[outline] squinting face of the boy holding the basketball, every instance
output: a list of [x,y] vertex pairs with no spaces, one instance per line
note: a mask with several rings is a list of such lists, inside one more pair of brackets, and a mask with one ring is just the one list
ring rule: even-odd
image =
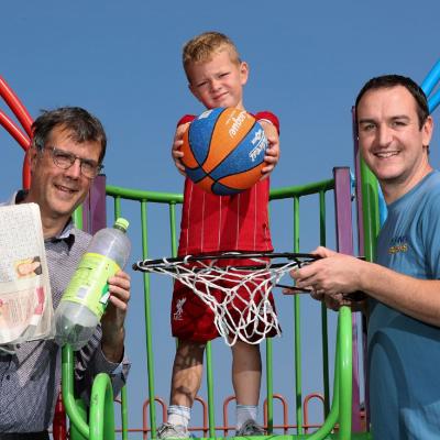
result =
[[231,61],[227,48],[211,59],[187,67],[189,90],[207,108],[243,107],[243,86],[248,81],[248,64]]

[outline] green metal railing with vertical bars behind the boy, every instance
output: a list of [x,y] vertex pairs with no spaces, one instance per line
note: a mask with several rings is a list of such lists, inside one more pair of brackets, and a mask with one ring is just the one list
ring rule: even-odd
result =
[[[326,244],[326,193],[334,189],[334,180],[323,180],[310,185],[286,187],[280,189],[274,189],[271,191],[271,206],[275,200],[289,199],[293,204],[293,252],[299,252],[299,205],[300,199],[307,196],[318,196],[319,198],[319,234],[320,244]],[[173,256],[177,253],[177,239],[176,239],[176,205],[183,202],[183,195],[180,194],[166,194],[156,191],[144,191],[121,188],[116,186],[107,186],[107,195],[113,198],[113,211],[114,217],[119,217],[121,212],[121,200],[132,200],[138,202],[141,212],[141,242],[142,242],[142,258],[148,257],[148,218],[147,207],[150,204],[165,204],[168,207],[169,216],[169,234],[170,234],[170,254]],[[150,420],[151,420],[151,436],[156,436],[156,414],[154,406],[155,388],[154,388],[154,351],[153,351],[153,329],[152,329],[152,304],[150,296],[150,276],[145,273],[143,276],[143,288],[144,288],[144,315],[145,315],[145,346],[146,346],[146,365],[147,365],[147,382],[148,382],[148,398],[152,403],[150,405]],[[330,384],[329,384],[329,346],[328,346],[328,323],[327,323],[327,310],[324,307],[321,308],[321,322],[322,322],[322,363],[323,363],[323,388],[324,388],[324,415],[326,421],[314,433],[304,433],[302,425],[302,370],[301,370],[301,314],[300,314],[300,298],[296,296],[294,298],[294,321],[295,321],[295,338],[294,338],[294,351],[295,351],[295,398],[296,398],[296,422],[297,422],[297,435],[296,436],[279,436],[289,439],[326,439],[338,436],[341,439],[351,438],[351,413],[352,413],[352,321],[351,311],[348,308],[342,308],[338,317],[338,330],[337,330],[337,349],[334,355],[334,377],[333,377],[333,397],[330,405]],[[130,336],[128,336],[130,338]],[[216,437],[216,424],[215,424],[215,396],[213,396],[213,365],[212,365],[212,351],[211,344],[208,343],[206,352],[206,369],[207,369],[207,394],[208,394],[208,416],[209,416],[209,438]],[[64,350],[63,355],[63,395],[64,402],[67,403],[66,409],[70,417],[70,421],[76,429],[86,438],[98,439],[98,438],[112,438],[109,431],[103,433],[102,422],[100,421],[101,429],[98,433],[98,428],[92,430],[92,424],[87,426],[84,417],[79,416],[80,410],[76,407],[75,399],[73,397],[72,388],[72,373],[73,359],[68,349]],[[65,384],[65,382],[67,384]],[[113,429],[113,420],[108,420],[107,416],[110,417],[110,409],[108,409],[107,400],[110,396],[108,386],[103,383],[100,385],[100,392],[97,391],[94,394],[96,405],[94,414],[100,420],[106,420]],[[111,387],[110,387],[111,388]],[[272,341],[266,340],[266,389],[267,389],[267,426],[268,432],[273,429],[273,348]],[[94,385],[95,393],[95,385]],[[99,396],[98,396],[99,394]],[[124,393],[123,393],[124,394]],[[106,397],[107,396],[107,397]],[[99,405],[97,404],[99,402]],[[122,414],[123,414],[123,438],[127,438],[127,398],[122,396]],[[339,425],[338,435],[331,433],[336,425]],[[109,428],[110,429],[110,428]],[[99,437],[105,436],[105,437]]]

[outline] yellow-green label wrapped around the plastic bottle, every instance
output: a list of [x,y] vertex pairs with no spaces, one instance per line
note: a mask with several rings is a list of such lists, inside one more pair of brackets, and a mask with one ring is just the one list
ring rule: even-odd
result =
[[81,304],[101,319],[110,297],[107,280],[118,271],[120,267],[113,260],[92,252],[85,253],[62,300]]

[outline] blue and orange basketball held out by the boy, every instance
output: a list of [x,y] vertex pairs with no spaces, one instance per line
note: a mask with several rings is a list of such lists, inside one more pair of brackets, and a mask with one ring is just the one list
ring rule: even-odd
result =
[[245,110],[207,110],[190,123],[183,141],[186,174],[208,193],[231,196],[262,176],[267,139]]

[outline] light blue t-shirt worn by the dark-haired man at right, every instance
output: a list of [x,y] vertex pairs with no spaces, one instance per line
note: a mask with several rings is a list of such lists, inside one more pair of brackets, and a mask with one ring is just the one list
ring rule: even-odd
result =
[[[393,271],[421,279],[440,278],[439,172],[388,206],[376,253],[376,262]],[[440,328],[374,299],[370,307],[374,439],[440,439]]]

